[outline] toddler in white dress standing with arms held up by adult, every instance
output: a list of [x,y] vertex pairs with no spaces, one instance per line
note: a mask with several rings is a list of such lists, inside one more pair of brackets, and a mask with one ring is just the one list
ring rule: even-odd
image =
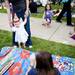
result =
[[[15,31],[15,42],[18,42],[19,48],[25,48],[25,43],[28,39],[28,33],[24,29],[24,25],[27,22],[27,18],[25,17],[24,21],[22,18],[18,18],[16,14],[14,14],[14,26],[12,26],[12,31]],[[22,46],[21,46],[22,45]]]

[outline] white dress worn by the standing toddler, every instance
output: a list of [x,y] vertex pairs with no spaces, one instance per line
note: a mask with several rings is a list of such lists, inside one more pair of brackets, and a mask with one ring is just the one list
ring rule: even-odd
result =
[[25,43],[28,39],[28,33],[24,28],[24,22],[20,22],[19,27],[15,27],[15,42]]

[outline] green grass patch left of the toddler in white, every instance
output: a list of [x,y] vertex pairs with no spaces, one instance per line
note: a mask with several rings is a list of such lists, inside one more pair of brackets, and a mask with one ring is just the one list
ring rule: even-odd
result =
[[0,48],[3,46],[11,46],[11,33],[0,30]]

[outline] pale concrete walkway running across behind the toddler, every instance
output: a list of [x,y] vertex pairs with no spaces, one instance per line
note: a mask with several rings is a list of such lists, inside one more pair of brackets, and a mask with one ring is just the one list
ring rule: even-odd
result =
[[[51,27],[42,26],[42,19],[30,18],[32,36],[75,46],[75,40],[70,38],[70,32],[73,27],[66,26],[66,23],[57,23],[52,21]],[[0,14],[0,29],[11,31],[8,25],[8,17],[6,14]]]

